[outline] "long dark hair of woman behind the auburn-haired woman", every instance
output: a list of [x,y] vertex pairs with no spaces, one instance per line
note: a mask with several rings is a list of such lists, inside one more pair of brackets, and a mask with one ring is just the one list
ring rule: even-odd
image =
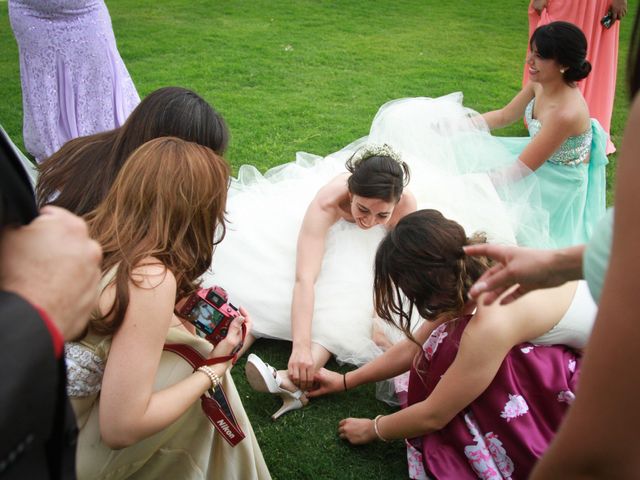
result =
[[129,155],[166,136],[218,155],[229,143],[223,118],[199,95],[186,88],[161,88],[147,95],[120,128],[71,140],[45,160],[36,187],[39,205],[51,203],[77,215],[90,212],[107,195]]

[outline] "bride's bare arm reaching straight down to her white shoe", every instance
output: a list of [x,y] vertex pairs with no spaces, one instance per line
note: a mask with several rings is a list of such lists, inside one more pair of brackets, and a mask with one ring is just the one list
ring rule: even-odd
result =
[[336,222],[331,209],[322,205],[321,192],[309,204],[298,235],[296,279],[291,303],[293,345],[288,370],[291,381],[302,389],[311,387],[315,374],[311,355],[314,288],[322,266],[327,232]]

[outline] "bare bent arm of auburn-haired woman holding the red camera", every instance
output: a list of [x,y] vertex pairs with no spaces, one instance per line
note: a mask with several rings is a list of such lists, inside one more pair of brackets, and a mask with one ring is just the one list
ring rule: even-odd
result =
[[[202,372],[154,392],[160,356],[173,317],[176,281],[163,266],[135,270],[141,284],[129,283],[129,306],[113,336],[100,394],[100,433],[111,448],[123,448],[176,421],[211,387]],[[228,354],[233,345],[220,342],[214,355]],[[228,364],[211,368],[222,377]]]

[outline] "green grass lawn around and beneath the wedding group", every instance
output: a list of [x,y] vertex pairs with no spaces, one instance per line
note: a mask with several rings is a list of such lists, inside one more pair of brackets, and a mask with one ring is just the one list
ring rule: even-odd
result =
[[[520,88],[527,42],[522,0],[118,0],[107,2],[120,53],[141,96],[181,85],[226,118],[234,169],[261,170],[303,150],[333,152],[367,134],[378,107],[394,98],[461,90],[478,111],[498,108]],[[629,2],[635,12],[637,0]],[[632,24],[622,24],[612,136],[619,145],[628,101],[624,60]],[[18,52],[0,2],[0,123],[22,146]],[[518,123],[499,132],[525,135]],[[608,172],[609,191],[615,155]],[[254,351],[286,365],[289,346]],[[330,367],[336,367],[330,364]],[[400,442],[351,447],[336,435],[347,416],[389,411],[373,387],[318,399],[272,422],[275,399],[234,377],[275,478],[405,478]]]

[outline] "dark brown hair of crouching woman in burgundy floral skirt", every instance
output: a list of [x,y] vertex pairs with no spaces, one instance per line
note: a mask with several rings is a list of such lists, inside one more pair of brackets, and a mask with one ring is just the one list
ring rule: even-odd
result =
[[466,256],[462,247],[485,241],[483,234],[467,238],[457,222],[437,210],[418,210],[402,218],[376,252],[378,316],[413,339],[414,307],[427,320],[459,315],[469,289],[489,267],[488,259]]

